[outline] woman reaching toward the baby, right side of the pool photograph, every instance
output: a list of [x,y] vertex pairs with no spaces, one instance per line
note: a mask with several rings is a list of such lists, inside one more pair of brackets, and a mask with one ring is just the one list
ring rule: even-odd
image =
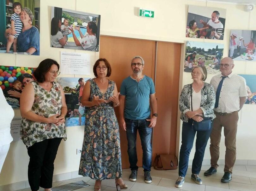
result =
[[97,25],[94,22],[88,22],[88,25],[86,27],[87,33],[85,35],[83,35],[82,31],[80,30],[80,26],[76,26],[76,30],[78,30],[80,34],[80,40],[77,39],[74,29],[70,28],[78,50],[94,51],[97,44]]

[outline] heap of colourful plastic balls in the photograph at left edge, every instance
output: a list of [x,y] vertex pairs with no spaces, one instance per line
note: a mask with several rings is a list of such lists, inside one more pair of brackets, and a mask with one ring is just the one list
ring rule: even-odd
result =
[[12,87],[16,81],[23,74],[33,75],[35,68],[18,67],[18,66],[0,66],[0,87],[4,90],[6,87]]

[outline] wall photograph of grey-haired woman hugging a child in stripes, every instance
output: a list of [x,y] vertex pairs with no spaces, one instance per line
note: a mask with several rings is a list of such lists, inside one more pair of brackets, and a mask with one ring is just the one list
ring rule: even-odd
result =
[[0,53],[40,55],[40,0],[1,0],[0,7]]

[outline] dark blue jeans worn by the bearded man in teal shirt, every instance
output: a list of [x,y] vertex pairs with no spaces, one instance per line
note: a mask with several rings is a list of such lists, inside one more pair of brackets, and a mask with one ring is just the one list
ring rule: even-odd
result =
[[[150,116],[147,119],[150,119]],[[143,151],[142,167],[144,171],[150,171],[151,163],[152,163],[152,145],[151,145],[152,128],[149,128],[150,121],[146,121],[146,119],[131,120],[131,119],[125,118],[125,123],[126,123],[126,137],[128,141],[128,155],[129,155],[131,170],[138,170],[136,138],[137,138],[137,131],[139,131],[142,151]]]

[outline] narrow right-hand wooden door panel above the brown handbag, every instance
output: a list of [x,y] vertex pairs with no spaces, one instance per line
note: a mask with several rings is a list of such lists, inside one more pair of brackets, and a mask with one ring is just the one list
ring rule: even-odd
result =
[[156,154],[176,154],[181,44],[157,42],[157,122],[153,131],[153,159]]

